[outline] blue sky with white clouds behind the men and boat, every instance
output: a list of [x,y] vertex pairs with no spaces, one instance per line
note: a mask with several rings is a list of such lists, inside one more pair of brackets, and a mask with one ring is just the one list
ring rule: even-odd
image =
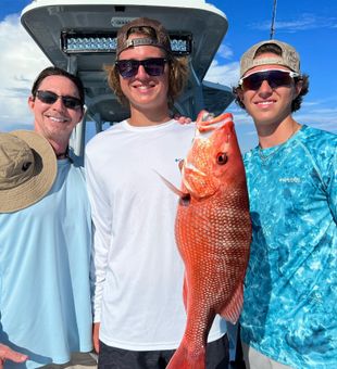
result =
[[[233,86],[240,55],[253,43],[270,38],[274,0],[208,0],[229,23],[227,35],[205,79]],[[0,130],[32,128],[27,109],[29,88],[49,62],[20,24],[20,13],[30,0],[1,0]],[[337,132],[337,1],[278,0],[275,38],[291,43],[301,55],[301,69],[310,76],[310,91],[295,114],[301,124]],[[242,151],[257,144],[251,119],[232,104]]]

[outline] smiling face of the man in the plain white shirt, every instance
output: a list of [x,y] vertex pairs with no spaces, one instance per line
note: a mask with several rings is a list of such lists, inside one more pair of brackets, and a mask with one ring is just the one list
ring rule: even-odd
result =
[[[129,39],[143,37],[133,34]],[[118,60],[147,60],[151,58],[165,58],[161,48],[153,46],[138,46],[121,52]],[[142,114],[167,115],[167,92],[168,92],[168,64],[165,63],[164,73],[160,76],[150,76],[146,73],[143,65],[140,65],[138,73],[129,78],[120,76],[121,89],[129,101],[132,117],[141,112]]]

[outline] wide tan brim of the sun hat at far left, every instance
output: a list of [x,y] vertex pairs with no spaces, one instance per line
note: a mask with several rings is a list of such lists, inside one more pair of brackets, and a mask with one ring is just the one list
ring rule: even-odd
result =
[[13,213],[41,200],[51,189],[58,173],[55,153],[46,138],[32,130],[11,135],[25,141],[34,153],[34,174],[15,188],[0,191],[0,213]]

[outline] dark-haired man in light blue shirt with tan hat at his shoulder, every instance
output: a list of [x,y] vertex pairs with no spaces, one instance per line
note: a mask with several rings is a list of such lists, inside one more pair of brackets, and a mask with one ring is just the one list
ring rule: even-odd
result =
[[0,368],[78,368],[92,348],[91,219],[67,147],[83,85],[46,68],[28,104],[35,131],[0,133]]

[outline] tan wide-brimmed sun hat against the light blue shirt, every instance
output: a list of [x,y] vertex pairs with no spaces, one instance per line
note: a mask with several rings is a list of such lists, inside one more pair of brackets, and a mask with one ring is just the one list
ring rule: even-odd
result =
[[54,151],[32,130],[0,133],[0,213],[13,213],[41,200],[58,166]]

